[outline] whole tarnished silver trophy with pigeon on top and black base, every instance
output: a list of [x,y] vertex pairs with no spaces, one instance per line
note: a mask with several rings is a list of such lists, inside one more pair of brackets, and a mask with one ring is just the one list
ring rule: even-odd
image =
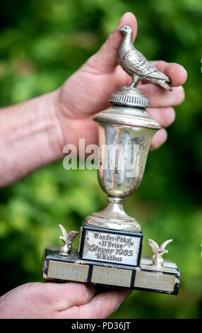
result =
[[165,246],[152,239],[152,258],[141,257],[143,234],[135,218],[123,208],[124,198],[141,184],[145,162],[153,135],[160,124],[150,118],[145,108],[148,98],[137,88],[140,80],[172,90],[170,79],[133,47],[129,26],[119,29],[123,38],[118,58],[121,67],[131,76],[131,85],[110,96],[112,106],[95,115],[99,137],[100,186],[108,194],[105,210],[92,213],[81,227],[79,249],[71,244],[78,232],[67,234],[59,225],[64,246],[47,247],[42,274],[55,281],[80,281],[101,286],[117,286],[158,293],[177,294],[179,270],[171,261],[164,261]]

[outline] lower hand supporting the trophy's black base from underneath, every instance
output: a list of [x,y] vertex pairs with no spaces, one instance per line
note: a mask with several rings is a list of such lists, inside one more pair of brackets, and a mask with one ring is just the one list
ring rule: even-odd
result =
[[131,293],[124,288],[95,291],[83,283],[27,283],[1,296],[0,318],[105,319]]

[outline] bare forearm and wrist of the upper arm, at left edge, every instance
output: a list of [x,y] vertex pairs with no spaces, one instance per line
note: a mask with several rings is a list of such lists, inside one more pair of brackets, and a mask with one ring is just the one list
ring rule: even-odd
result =
[[62,156],[57,91],[0,110],[0,186]]

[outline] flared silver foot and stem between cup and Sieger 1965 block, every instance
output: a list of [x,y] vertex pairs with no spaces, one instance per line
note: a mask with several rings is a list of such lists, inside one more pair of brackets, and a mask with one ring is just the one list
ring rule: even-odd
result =
[[124,211],[124,198],[108,196],[109,204],[104,210],[93,213],[85,219],[85,225],[93,225],[112,230],[130,230],[141,232],[141,226],[135,218]]

